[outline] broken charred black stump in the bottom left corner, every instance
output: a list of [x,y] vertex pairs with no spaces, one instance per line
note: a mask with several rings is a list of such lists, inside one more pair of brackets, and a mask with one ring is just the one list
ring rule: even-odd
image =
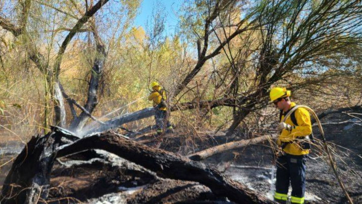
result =
[[0,196],[2,204],[36,204],[47,197],[54,152],[62,135],[55,131],[30,139],[5,178]]

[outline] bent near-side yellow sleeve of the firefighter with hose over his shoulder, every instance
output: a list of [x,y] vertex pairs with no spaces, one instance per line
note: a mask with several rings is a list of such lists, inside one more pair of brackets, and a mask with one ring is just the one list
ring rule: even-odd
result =
[[295,110],[295,119],[298,125],[293,126],[290,132],[293,138],[307,136],[312,133],[311,116],[306,109],[299,108]]

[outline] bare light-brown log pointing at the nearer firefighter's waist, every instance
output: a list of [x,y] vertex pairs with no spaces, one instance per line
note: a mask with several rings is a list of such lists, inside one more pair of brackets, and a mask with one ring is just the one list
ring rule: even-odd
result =
[[260,137],[252,138],[252,139],[242,139],[239,141],[220,144],[218,146],[211,147],[206,150],[202,150],[202,151],[196,152],[194,154],[191,154],[189,156],[189,159],[194,160],[194,161],[201,161],[212,155],[219,154],[224,151],[228,151],[228,150],[232,150],[232,149],[236,149],[236,148],[240,148],[240,147],[245,147],[245,146],[248,146],[249,144],[257,144],[257,143],[263,142],[268,139],[276,138],[277,136],[278,135],[267,135],[267,136],[260,136]]

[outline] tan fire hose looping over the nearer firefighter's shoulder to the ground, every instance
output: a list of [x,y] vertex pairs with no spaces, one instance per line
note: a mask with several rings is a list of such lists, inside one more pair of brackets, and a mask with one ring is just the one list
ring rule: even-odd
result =
[[297,106],[294,106],[287,114],[286,116],[284,117],[283,121],[282,122],[285,122],[285,120],[290,117],[290,115],[298,108],[304,108],[306,110],[308,110],[312,115],[313,117],[316,119],[316,122],[318,123],[318,128],[319,128],[319,131],[321,133],[321,137],[322,137],[322,142],[323,142],[323,147],[324,147],[324,150],[325,152],[327,153],[328,155],[328,160],[329,160],[329,163],[331,164],[331,167],[333,169],[333,172],[334,172],[334,175],[336,176],[337,180],[338,180],[338,183],[340,184],[341,188],[342,188],[342,191],[344,192],[345,196],[347,197],[348,199],[348,202],[350,204],[353,204],[353,201],[352,199],[349,197],[348,195],[348,192],[346,191],[346,188],[344,187],[344,184],[342,183],[342,180],[340,178],[340,176],[338,175],[338,172],[337,172],[337,166],[336,164],[334,163],[333,161],[333,157],[332,157],[332,154],[331,152],[329,151],[329,148],[328,148],[328,144],[327,144],[327,141],[325,140],[325,137],[324,137],[324,131],[323,131],[323,128],[322,128],[322,125],[319,121],[319,118],[317,117],[317,114],[308,106],[304,106],[304,105],[297,105]]

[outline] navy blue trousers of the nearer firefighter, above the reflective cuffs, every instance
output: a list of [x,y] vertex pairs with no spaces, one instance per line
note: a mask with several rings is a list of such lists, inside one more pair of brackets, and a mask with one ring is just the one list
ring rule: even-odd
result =
[[275,192],[288,194],[289,183],[291,196],[304,197],[306,191],[306,156],[285,154],[277,159],[277,182]]

